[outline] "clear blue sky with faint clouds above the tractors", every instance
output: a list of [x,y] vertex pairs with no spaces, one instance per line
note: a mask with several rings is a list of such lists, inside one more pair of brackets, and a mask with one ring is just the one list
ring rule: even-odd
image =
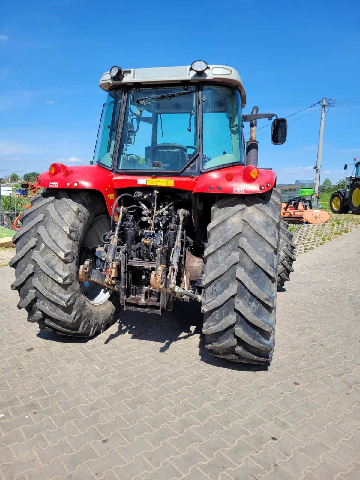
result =
[[[0,168],[43,171],[56,159],[88,163],[112,65],[186,65],[204,59],[238,69],[250,112],[290,115],[323,96],[322,180],[336,182],[360,157],[360,7],[347,1],[19,1],[0,18]],[[278,182],[313,178],[320,112],[288,120],[288,140],[259,131],[259,165]],[[258,127],[266,125],[258,122]],[[247,129],[248,131],[248,129]]]

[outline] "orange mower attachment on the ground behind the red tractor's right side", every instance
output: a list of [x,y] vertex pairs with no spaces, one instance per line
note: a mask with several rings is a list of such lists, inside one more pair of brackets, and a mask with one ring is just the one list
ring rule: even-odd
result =
[[296,197],[281,204],[281,218],[288,223],[325,223],[330,216],[327,212],[314,210],[310,200]]

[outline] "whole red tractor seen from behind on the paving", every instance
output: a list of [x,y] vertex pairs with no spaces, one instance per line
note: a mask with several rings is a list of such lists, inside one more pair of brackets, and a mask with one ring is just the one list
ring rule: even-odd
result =
[[[94,166],[53,163],[21,216],[10,262],[28,321],[93,336],[120,310],[171,311],[198,301],[216,357],[269,363],[278,284],[294,245],[280,219],[276,174],[257,167],[256,120],[228,66],[112,67]],[[244,121],[251,122],[244,141]]]

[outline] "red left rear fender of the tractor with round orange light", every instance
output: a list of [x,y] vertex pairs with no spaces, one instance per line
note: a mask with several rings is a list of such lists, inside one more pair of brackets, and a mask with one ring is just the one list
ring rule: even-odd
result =
[[52,175],[47,170],[39,175],[36,181],[39,187],[54,190],[96,190],[103,195],[108,212],[111,215],[115,200],[112,172],[97,165],[67,167],[62,163],[57,163],[56,166],[57,169],[60,168],[58,173]]

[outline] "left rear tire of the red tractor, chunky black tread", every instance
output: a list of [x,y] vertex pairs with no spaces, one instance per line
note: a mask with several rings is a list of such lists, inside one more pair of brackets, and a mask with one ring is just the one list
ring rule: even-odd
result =
[[[79,265],[110,230],[105,203],[95,192],[47,190],[21,216],[15,235],[13,290],[28,322],[63,335],[93,336],[114,322],[119,295],[79,281]],[[94,243],[94,244],[92,244]]]

